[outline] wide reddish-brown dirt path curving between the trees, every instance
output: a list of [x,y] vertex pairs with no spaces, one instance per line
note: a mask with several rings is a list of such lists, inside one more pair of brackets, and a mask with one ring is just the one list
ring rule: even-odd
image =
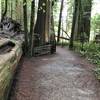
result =
[[67,48],[23,58],[19,68],[10,100],[100,100],[94,66]]

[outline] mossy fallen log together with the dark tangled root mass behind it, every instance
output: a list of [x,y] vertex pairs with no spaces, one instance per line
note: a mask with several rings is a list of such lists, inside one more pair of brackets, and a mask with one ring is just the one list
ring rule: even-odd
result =
[[0,100],[8,100],[14,73],[22,56],[24,34],[21,25],[11,18],[4,18],[0,28]]

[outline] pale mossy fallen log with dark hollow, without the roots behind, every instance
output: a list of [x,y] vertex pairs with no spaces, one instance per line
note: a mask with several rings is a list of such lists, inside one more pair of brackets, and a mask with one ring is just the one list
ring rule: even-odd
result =
[[0,39],[0,100],[8,99],[16,66],[22,56],[21,46],[18,41]]

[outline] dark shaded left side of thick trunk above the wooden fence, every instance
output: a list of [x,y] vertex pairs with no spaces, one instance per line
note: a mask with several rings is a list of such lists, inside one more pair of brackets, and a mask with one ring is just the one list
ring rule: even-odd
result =
[[34,32],[39,35],[40,40],[36,45],[45,43],[45,24],[46,24],[46,3],[47,0],[39,0],[37,21]]

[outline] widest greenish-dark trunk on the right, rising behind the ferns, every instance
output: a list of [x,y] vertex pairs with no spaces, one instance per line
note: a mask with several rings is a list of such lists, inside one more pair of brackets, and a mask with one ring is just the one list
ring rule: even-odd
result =
[[[84,1],[86,3],[86,1]],[[90,19],[91,19],[91,6],[92,0],[88,0],[88,4],[82,4],[82,0],[78,1],[76,25],[78,26],[75,31],[75,40],[79,39],[85,33],[85,40],[90,37]],[[75,26],[76,26],[75,25]],[[84,38],[84,37],[83,37]]]

